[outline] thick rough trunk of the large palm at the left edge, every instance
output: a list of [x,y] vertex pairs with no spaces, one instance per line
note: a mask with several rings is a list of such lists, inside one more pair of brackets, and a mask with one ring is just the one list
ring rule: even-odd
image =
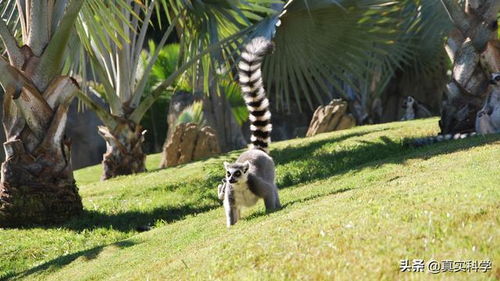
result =
[[73,179],[70,140],[64,136],[78,85],[69,77],[58,77],[40,94],[29,81],[25,83],[20,89],[3,84],[7,141],[0,226],[61,222],[83,209]]

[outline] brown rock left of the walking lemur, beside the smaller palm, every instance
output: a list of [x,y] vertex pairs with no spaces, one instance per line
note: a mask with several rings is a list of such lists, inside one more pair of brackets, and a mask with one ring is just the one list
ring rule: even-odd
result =
[[189,163],[220,153],[215,130],[194,123],[179,124],[163,151],[162,168]]

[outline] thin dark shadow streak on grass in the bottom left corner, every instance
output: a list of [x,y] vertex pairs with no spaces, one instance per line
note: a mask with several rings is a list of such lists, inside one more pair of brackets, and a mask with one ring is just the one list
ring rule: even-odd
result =
[[19,275],[11,274],[9,276],[4,276],[2,278],[2,280],[8,280],[9,278],[13,278],[13,277],[16,277],[17,279],[22,279],[22,278],[28,277],[32,274],[36,274],[37,272],[41,272],[41,271],[55,271],[55,270],[58,270],[64,266],[72,263],[73,261],[75,261],[78,258],[82,258],[85,261],[90,261],[90,260],[97,258],[99,256],[99,254],[102,252],[102,250],[104,249],[104,247],[113,246],[113,247],[116,247],[119,249],[124,249],[124,248],[128,248],[128,247],[132,247],[132,246],[137,245],[137,244],[139,244],[139,243],[137,243],[135,241],[124,240],[124,241],[116,242],[116,243],[109,244],[109,245],[104,245],[104,246],[99,246],[99,247],[95,247],[95,248],[88,249],[88,250],[79,251],[79,252],[76,252],[73,254],[69,254],[69,255],[55,258],[55,259],[53,259],[49,262],[46,262],[42,265],[39,265],[39,266],[33,267],[27,271],[24,271]]

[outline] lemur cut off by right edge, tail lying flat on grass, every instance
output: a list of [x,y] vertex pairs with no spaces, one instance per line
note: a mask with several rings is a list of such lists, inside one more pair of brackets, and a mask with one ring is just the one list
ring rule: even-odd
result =
[[493,85],[493,89],[488,95],[484,106],[477,112],[475,132],[421,138],[413,140],[410,145],[418,147],[445,140],[464,139],[476,135],[500,133],[500,72],[492,74],[490,83]]

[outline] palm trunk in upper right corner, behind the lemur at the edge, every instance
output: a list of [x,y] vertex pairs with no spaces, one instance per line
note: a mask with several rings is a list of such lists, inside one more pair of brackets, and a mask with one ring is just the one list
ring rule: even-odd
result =
[[439,125],[442,134],[471,132],[486,99],[491,73],[498,71],[496,17],[500,3],[467,0],[464,9],[455,0],[442,1],[456,29],[446,46],[454,63]]

